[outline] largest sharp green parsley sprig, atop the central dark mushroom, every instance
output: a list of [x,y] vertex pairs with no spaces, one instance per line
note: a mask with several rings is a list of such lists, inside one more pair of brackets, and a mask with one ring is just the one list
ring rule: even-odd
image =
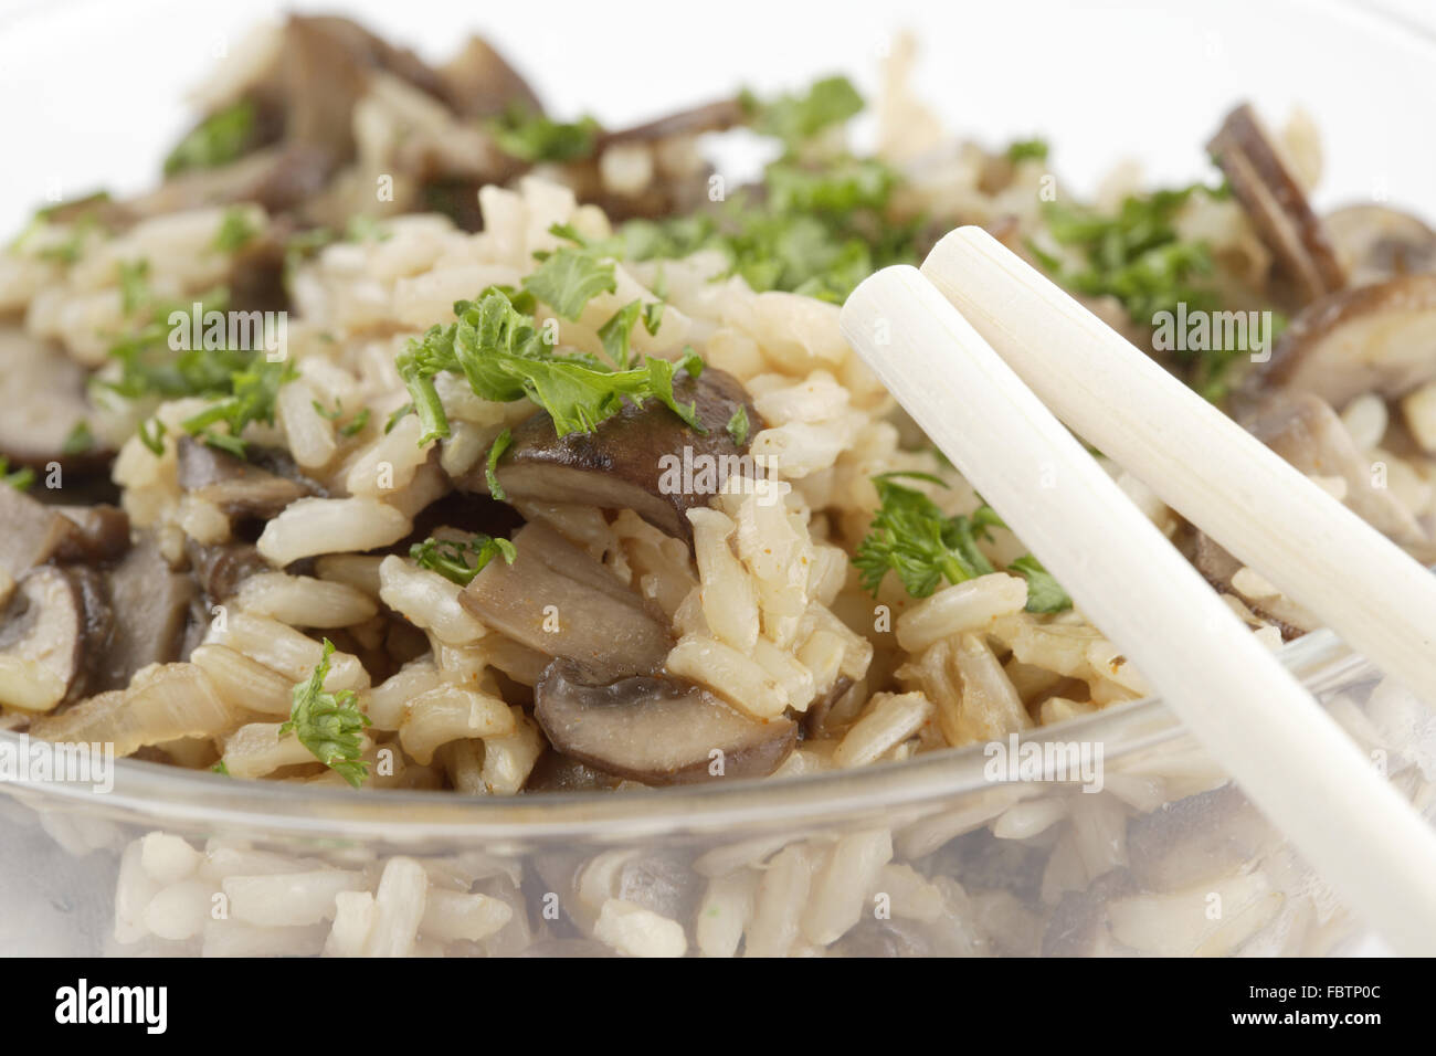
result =
[[530,302],[531,295],[490,286],[475,300],[454,305],[458,322],[432,326],[422,339],[409,341],[395,365],[424,422],[421,444],[449,435],[434,388],[441,371],[462,374],[482,399],[531,399],[549,412],[560,437],[592,432],[617,414],[625,399],[642,404],[649,398],[702,431],[696,407],[679,404],[673,395],[678,371],[694,378],[702,371],[704,361],[692,349],[678,362],[648,356],[642,366],[609,371],[593,356],[554,353],[537,320],[518,307]]

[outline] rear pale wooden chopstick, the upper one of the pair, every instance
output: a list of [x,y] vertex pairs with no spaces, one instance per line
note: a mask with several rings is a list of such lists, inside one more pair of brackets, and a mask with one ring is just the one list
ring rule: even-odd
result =
[[987,231],[922,273],[1058,418],[1432,703],[1436,576]]

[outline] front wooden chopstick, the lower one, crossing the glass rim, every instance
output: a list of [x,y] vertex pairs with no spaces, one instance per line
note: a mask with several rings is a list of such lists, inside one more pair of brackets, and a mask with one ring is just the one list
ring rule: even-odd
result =
[[1327,882],[1396,950],[1436,953],[1436,833],[932,283],[879,272],[841,328]]

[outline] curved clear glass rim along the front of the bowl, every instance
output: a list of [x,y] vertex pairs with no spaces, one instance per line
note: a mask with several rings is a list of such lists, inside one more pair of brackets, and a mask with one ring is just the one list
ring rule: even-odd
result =
[[[1370,668],[1330,629],[1287,642],[1278,659],[1314,694]],[[1173,741],[1185,727],[1159,697],[1037,727],[1020,743],[1101,743],[1104,764]],[[0,746],[23,750],[27,736],[0,731]],[[951,802],[1011,784],[984,773],[984,743],[939,749],[913,759],[794,777],[760,777],[625,793],[537,793],[461,796],[429,789],[299,786],[290,782],[236,780],[207,770],[116,759],[113,787],[86,783],[0,782],[37,806],[95,812],[145,823],[198,829],[243,828],[314,839],[392,838],[632,838],[793,826],[902,806]],[[1021,782],[1018,782],[1021,783]]]

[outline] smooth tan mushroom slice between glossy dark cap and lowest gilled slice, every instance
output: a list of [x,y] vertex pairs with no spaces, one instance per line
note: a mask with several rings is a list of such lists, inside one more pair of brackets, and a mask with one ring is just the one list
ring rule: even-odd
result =
[[460,602],[487,626],[606,680],[656,671],[672,648],[668,628],[607,569],[544,524],[513,539],[513,565],[491,560]]

